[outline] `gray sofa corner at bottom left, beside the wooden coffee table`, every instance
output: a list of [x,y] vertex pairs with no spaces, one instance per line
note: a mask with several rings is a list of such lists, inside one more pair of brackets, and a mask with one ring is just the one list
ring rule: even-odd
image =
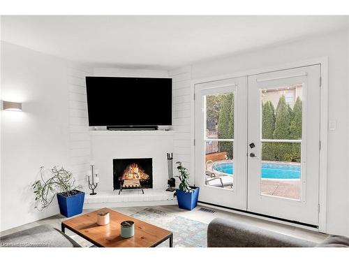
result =
[[48,225],[4,235],[0,247],[80,247],[68,235]]

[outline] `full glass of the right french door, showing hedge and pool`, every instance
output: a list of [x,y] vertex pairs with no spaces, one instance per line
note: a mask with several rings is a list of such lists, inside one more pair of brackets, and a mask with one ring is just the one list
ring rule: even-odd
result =
[[[260,192],[299,200],[302,85],[262,89],[261,100]],[[292,140],[292,143],[288,140]]]

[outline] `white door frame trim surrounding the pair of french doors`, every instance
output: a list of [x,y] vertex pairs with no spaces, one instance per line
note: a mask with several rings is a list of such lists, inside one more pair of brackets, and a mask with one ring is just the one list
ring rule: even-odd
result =
[[[320,175],[319,175],[319,226],[318,231],[326,233],[326,219],[327,219],[327,136],[328,136],[328,57],[318,57],[314,59],[307,59],[303,61],[295,61],[289,64],[281,64],[278,66],[268,66],[264,68],[252,69],[247,71],[239,71],[235,73],[229,73],[225,75],[218,75],[209,78],[193,79],[191,80],[191,173],[195,174],[195,85],[202,82],[211,82],[217,80],[224,80],[228,78],[239,78],[242,76],[255,75],[259,73],[269,73],[273,71],[280,71],[290,68],[297,68],[303,66],[312,66],[315,64],[320,64]],[[195,174],[196,176],[196,174]],[[194,176],[194,181],[195,181]],[[235,212],[234,210],[231,210]],[[248,215],[248,213],[246,213]],[[264,217],[260,217],[264,218]],[[295,224],[297,226],[297,224]]]

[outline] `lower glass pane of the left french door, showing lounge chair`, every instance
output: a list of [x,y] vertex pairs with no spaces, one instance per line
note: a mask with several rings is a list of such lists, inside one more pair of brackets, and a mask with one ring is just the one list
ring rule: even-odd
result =
[[233,146],[232,141],[208,140],[205,142],[205,184],[207,186],[232,189]]

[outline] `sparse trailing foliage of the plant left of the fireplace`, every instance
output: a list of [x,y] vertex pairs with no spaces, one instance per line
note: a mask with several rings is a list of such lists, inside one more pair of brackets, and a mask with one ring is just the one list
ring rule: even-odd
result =
[[77,194],[77,189],[81,186],[75,186],[75,178],[70,171],[65,170],[63,167],[60,169],[54,166],[50,169],[52,176],[48,179],[44,177],[45,168],[40,167],[40,180],[36,180],[34,184],[31,185],[35,195],[36,206],[38,210],[43,210],[47,208],[53,201],[54,196],[57,193],[63,196],[73,196]]

